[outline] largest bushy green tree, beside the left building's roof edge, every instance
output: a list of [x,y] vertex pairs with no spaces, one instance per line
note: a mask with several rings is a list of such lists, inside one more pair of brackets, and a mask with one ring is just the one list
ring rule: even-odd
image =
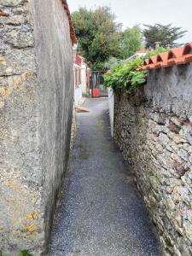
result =
[[110,57],[120,55],[120,26],[115,23],[115,16],[108,7],[80,8],[72,18],[79,40],[79,54],[92,69],[103,69]]

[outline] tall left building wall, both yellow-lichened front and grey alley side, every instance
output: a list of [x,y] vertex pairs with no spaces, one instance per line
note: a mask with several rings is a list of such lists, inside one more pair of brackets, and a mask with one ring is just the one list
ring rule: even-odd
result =
[[40,255],[70,146],[68,18],[60,0],[0,0],[0,9],[0,254]]

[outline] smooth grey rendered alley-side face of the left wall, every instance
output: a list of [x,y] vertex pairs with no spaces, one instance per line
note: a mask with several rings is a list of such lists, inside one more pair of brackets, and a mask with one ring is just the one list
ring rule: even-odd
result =
[[67,14],[61,1],[34,0],[38,57],[40,140],[44,177],[45,234],[67,168],[73,116],[73,50]]

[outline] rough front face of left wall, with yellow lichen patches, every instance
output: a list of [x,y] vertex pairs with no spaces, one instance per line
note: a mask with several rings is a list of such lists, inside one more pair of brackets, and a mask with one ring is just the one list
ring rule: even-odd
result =
[[13,253],[44,243],[38,83],[29,3],[0,6],[0,251]]

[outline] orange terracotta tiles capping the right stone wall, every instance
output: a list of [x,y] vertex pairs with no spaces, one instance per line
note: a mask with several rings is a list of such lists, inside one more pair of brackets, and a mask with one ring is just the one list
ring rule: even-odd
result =
[[156,69],[160,67],[172,67],[192,62],[192,42],[183,47],[170,49],[160,55],[155,55],[144,61],[143,67],[137,70]]

